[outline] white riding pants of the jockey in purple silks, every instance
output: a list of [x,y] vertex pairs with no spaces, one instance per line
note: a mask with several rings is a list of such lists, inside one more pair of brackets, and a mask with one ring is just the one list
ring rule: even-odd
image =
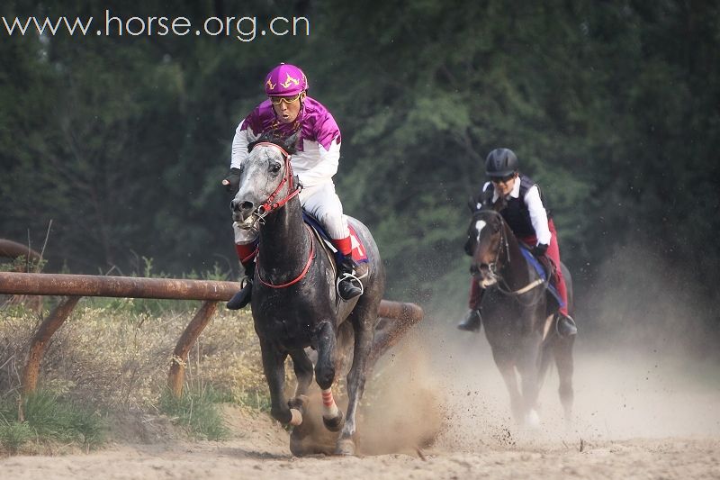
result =
[[[330,238],[342,240],[347,238],[347,218],[343,215],[343,204],[335,193],[335,184],[328,182],[317,186],[303,188],[300,192],[300,203],[306,211],[315,215],[328,231]],[[235,232],[235,243],[247,245],[257,240],[259,231],[254,229],[241,229],[238,222],[232,223]]]

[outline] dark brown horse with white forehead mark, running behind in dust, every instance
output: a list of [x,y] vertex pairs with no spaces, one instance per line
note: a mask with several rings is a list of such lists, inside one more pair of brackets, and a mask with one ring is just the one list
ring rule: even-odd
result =
[[[537,396],[554,358],[560,376],[560,401],[565,419],[570,421],[574,336],[558,335],[554,315],[557,304],[548,299],[547,283],[523,255],[508,223],[491,207],[473,213],[468,238],[473,251],[471,273],[485,289],[482,325],[508,387],[515,420],[531,427],[538,424]],[[561,267],[572,314],[572,278],[567,268]]]

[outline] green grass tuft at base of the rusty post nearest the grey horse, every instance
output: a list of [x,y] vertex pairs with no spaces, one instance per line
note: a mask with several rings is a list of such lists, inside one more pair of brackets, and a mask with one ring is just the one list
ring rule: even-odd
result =
[[221,440],[229,437],[229,429],[222,420],[218,404],[229,400],[228,394],[210,386],[184,392],[180,398],[166,390],[160,397],[159,409],[194,437]]

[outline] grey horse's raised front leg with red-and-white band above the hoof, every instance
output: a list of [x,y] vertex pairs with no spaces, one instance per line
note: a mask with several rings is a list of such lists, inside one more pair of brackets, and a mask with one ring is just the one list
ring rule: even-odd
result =
[[335,349],[337,345],[335,329],[329,321],[318,324],[315,330],[315,343],[318,349],[318,363],[315,366],[315,379],[322,391],[322,422],[330,431],[338,431],[343,426],[343,414],[332,396],[332,384],[335,382]]

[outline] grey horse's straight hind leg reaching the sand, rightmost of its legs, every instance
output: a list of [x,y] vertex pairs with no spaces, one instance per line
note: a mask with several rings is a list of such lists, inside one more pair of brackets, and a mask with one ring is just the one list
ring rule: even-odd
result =
[[353,349],[353,366],[347,374],[347,414],[345,427],[340,432],[336,445],[336,453],[340,455],[355,455],[356,410],[357,404],[365,391],[365,376],[370,359],[370,352],[374,340],[374,322],[368,312],[361,314],[354,312],[351,320],[355,330],[355,345]]

